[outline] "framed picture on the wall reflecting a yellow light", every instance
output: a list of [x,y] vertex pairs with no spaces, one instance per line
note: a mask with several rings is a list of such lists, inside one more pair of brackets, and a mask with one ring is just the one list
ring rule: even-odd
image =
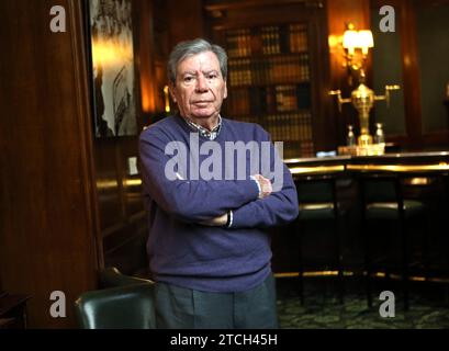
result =
[[97,137],[137,134],[132,0],[87,0]]

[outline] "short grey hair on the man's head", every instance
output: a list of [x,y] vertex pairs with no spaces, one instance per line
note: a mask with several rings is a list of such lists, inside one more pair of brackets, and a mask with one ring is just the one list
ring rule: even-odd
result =
[[178,65],[183,61],[186,58],[205,53],[212,52],[216,55],[216,58],[220,63],[220,70],[222,71],[223,79],[226,80],[227,77],[227,55],[223,47],[211,44],[210,42],[203,38],[195,38],[193,41],[186,41],[179,43],[171,50],[167,64],[167,75],[168,80],[175,84],[176,83],[176,73]]

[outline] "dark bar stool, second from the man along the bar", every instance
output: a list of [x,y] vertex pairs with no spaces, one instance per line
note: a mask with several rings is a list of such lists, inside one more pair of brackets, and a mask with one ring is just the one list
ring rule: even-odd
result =
[[[362,233],[364,239],[364,270],[366,292],[368,306],[372,307],[371,280],[372,280],[372,254],[370,220],[395,220],[399,225],[401,239],[401,276],[402,292],[404,296],[404,309],[409,307],[408,280],[409,280],[409,248],[407,222],[412,217],[423,215],[427,225],[426,206],[423,202],[404,197],[404,180],[413,178],[413,174],[361,172],[359,185],[361,195]],[[422,233],[422,263],[427,272],[428,240],[426,230]],[[390,278],[385,269],[386,278]]]

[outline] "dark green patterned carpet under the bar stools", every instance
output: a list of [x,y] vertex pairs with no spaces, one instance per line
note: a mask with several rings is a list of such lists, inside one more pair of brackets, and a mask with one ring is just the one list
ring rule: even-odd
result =
[[[385,286],[378,282],[375,292]],[[381,317],[383,301],[373,294],[373,307],[368,308],[363,285],[356,279],[345,282],[345,301],[332,278],[305,280],[305,304],[301,305],[295,279],[277,279],[278,314],[282,329],[447,329],[449,304],[444,284],[415,284],[411,288],[409,310],[404,312],[401,296],[395,296],[395,316]],[[391,283],[390,283],[391,285]],[[393,288],[391,288],[393,287]],[[391,285],[395,291],[399,286]],[[401,295],[397,293],[397,295]]]

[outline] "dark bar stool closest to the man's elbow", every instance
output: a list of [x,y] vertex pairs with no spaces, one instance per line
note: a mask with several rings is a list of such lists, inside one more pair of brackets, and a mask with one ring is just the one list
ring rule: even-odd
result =
[[340,252],[340,208],[337,200],[337,174],[302,176],[295,178],[300,214],[296,220],[299,250],[299,293],[304,304],[303,234],[305,222],[333,222],[334,265],[338,271],[339,301],[344,299],[343,264]]

